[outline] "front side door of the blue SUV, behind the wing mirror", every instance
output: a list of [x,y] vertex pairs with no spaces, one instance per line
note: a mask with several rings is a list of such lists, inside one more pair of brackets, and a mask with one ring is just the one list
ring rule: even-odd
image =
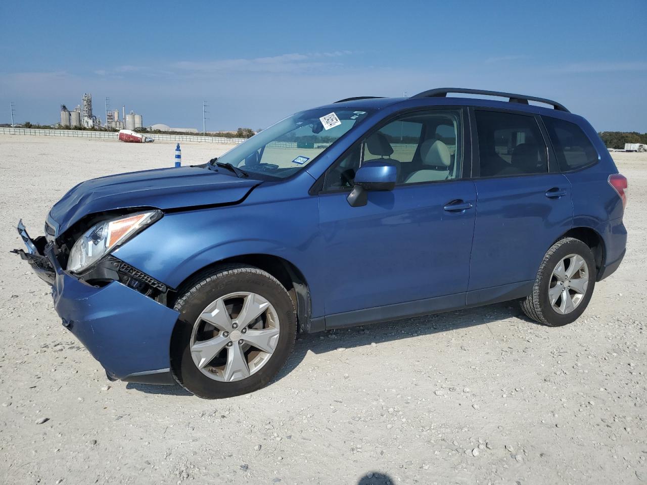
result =
[[[327,327],[464,305],[476,203],[474,184],[466,180],[465,115],[462,109],[401,114],[326,172],[318,197]],[[366,205],[351,207],[356,169],[376,159],[396,165],[399,182],[391,191],[369,191]],[[370,318],[361,312],[330,317],[405,302],[418,303]]]

